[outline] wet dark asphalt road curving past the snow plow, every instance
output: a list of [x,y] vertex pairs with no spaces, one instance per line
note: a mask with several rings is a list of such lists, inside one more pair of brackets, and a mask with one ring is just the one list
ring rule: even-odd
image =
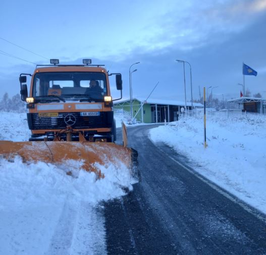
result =
[[147,137],[151,127],[128,128],[141,182],[104,204],[108,253],[266,254],[265,216],[202,181],[182,155],[155,146]]

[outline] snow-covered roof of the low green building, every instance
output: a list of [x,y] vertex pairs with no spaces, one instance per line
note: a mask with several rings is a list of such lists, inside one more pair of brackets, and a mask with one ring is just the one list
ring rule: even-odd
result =
[[[129,98],[126,98],[126,99],[123,99],[123,100],[118,100],[118,101],[115,101],[114,104],[127,102],[129,100],[130,100]],[[184,101],[176,101],[176,100],[168,100],[168,99],[149,98],[149,99],[146,100],[146,98],[144,98],[144,97],[136,97],[136,98],[133,98],[133,100],[138,100],[141,103],[146,101],[147,104],[162,104],[162,105],[180,105],[180,106],[185,106],[185,102]],[[187,102],[187,106],[191,106],[191,102]],[[194,103],[193,102],[193,106],[194,107],[203,107],[203,104]]]

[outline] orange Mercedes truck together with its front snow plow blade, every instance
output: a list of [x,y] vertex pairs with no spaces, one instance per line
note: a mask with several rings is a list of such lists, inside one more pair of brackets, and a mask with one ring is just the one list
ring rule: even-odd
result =
[[[29,142],[0,142],[0,154],[20,155],[25,162],[82,162],[82,168],[103,177],[100,165],[121,163],[129,169],[136,164],[137,152],[127,148],[125,126],[123,146],[115,144],[116,122],[109,77],[114,75],[121,91],[121,74],[109,74],[103,65],[37,65],[31,74],[20,75],[21,99],[26,101]],[[28,95],[27,76],[31,77]]]

